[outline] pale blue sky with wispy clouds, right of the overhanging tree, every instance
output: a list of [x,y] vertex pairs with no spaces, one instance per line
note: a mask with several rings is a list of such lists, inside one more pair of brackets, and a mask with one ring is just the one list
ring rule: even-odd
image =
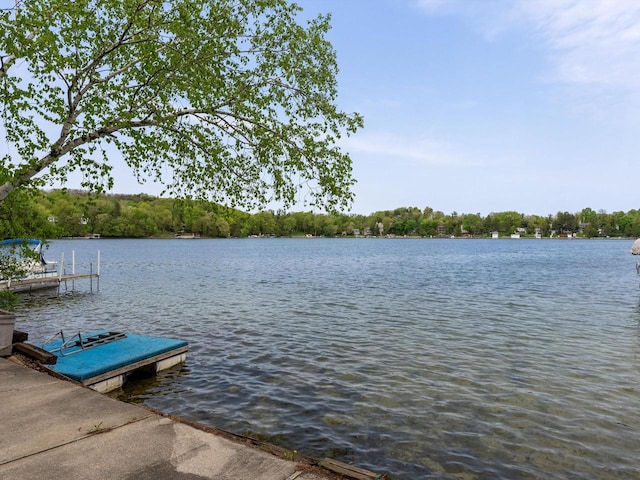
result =
[[352,211],[639,208],[637,0],[298,0],[332,14]]

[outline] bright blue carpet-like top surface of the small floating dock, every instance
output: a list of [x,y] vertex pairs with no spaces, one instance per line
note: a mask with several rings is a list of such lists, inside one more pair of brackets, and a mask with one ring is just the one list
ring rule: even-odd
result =
[[[83,334],[83,338],[108,333],[101,330]],[[52,351],[60,348],[62,340],[52,341],[45,345],[45,349]],[[51,368],[56,372],[83,382],[89,378],[117,370],[127,365],[176,350],[188,345],[184,340],[172,338],[147,337],[127,333],[125,338],[88,348],[72,355],[60,355],[55,352],[58,360]],[[67,351],[67,350],[65,350]]]

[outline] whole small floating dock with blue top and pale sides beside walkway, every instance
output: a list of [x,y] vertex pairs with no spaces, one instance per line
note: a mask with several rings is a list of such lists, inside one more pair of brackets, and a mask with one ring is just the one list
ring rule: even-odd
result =
[[156,373],[186,360],[184,340],[99,330],[43,347],[57,357],[51,369],[100,392],[122,386],[134,371]]

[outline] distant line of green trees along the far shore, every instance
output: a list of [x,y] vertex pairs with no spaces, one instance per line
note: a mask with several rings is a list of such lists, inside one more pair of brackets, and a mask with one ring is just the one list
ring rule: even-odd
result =
[[493,232],[508,236],[538,233],[579,237],[640,237],[640,210],[526,215],[514,211],[445,215],[430,207],[402,207],[369,215],[262,211],[250,214],[195,200],[174,200],[145,194],[90,195],[83,191],[14,192],[0,204],[3,238],[173,237],[195,234],[227,238],[247,236],[470,236]]

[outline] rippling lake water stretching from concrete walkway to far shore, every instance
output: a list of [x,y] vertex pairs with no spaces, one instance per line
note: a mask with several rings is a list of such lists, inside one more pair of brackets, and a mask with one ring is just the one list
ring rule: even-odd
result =
[[622,240],[68,240],[100,290],[37,343],[188,340],[119,398],[397,479],[640,478],[640,277]]

